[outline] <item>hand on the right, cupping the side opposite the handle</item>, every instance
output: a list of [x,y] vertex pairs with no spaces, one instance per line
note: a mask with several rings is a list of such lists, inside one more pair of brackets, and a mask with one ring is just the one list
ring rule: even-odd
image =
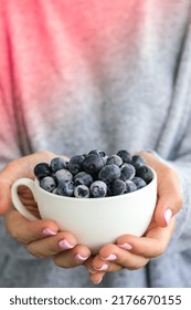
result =
[[116,245],[106,245],[95,258],[89,258],[85,265],[89,269],[89,278],[94,283],[102,281],[106,272],[123,268],[139,269],[149,259],[165,252],[174,229],[174,215],[182,206],[179,179],[174,170],[160,162],[152,154],[140,153],[148,166],[158,176],[158,202],[152,220],[141,237],[121,236]]

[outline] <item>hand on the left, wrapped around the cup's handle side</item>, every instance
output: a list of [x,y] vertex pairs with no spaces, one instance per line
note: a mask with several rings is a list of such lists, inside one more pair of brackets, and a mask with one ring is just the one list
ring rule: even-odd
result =
[[[50,162],[56,155],[39,152],[11,162],[0,173],[0,213],[6,214],[6,226],[10,235],[24,244],[29,252],[39,258],[52,257],[57,266],[71,268],[81,265],[91,251],[77,245],[76,238],[68,231],[59,231],[51,220],[29,221],[11,205],[11,185],[20,177],[34,178],[33,168],[40,162]],[[19,187],[20,199],[35,216],[36,204],[29,188]]]

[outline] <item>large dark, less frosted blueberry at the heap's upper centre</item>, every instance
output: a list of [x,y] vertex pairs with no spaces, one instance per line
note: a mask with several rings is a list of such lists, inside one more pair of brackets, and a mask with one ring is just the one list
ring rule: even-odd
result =
[[89,154],[82,163],[82,166],[86,173],[94,175],[103,168],[104,162],[99,155]]

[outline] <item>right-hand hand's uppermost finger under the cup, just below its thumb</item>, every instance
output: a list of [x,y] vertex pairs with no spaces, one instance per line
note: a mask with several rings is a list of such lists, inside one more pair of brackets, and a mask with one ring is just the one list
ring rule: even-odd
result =
[[136,254],[148,259],[155,258],[165,252],[173,230],[174,219],[171,219],[168,227],[161,228],[156,226],[147,232],[146,237],[123,236],[118,238],[117,246],[126,249],[127,252]]

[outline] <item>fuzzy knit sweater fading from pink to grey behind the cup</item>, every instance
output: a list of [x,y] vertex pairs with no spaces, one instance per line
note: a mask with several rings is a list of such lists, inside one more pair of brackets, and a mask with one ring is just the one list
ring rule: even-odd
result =
[[[191,1],[0,0],[0,165],[155,149],[183,208],[167,251],[97,287],[191,287]],[[39,260],[0,223],[0,287],[94,287],[84,267]]]

